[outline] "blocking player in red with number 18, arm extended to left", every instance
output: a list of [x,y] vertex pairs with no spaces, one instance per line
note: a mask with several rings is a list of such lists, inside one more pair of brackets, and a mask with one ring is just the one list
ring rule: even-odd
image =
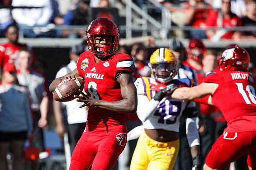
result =
[[204,170],[223,169],[248,153],[247,164],[256,170],[256,78],[247,70],[250,56],[237,45],[225,49],[218,69],[193,88],[178,88],[175,99],[195,99],[214,105],[227,120],[227,128],[212,145]]

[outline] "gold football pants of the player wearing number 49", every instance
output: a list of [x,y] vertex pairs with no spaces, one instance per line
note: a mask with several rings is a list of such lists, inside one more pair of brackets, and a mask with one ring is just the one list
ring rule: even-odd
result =
[[157,142],[143,131],[134,150],[130,170],[172,170],[179,147],[179,139]]

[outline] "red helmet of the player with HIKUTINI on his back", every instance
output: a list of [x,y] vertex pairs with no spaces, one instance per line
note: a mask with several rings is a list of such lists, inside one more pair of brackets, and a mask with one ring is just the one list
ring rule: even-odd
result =
[[238,45],[229,45],[218,59],[221,70],[247,71],[250,63],[248,52]]

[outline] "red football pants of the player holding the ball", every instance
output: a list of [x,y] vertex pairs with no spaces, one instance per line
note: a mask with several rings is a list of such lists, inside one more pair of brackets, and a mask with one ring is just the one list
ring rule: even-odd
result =
[[83,133],[71,156],[70,170],[111,170],[127,142],[125,125]]

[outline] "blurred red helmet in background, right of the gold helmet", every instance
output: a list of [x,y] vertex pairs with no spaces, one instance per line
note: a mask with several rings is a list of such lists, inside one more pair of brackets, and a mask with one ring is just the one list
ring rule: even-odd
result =
[[[198,48],[198,51],[192,52],[193,48]],[[191,58],[191,59],[194,59],[195,61],[201,62],[205,52],[206,52],[206,47],[204,45],[204,42],[201,39],[192,38],[189,41],[189,45],[186,48],[186,54],[187,54],[188,58]]]

